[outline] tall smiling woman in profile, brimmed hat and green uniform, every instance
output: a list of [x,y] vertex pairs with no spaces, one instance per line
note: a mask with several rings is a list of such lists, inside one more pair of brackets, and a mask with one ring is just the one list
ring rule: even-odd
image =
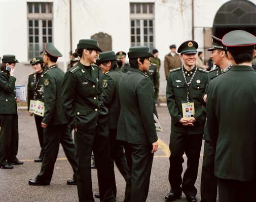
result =
[[98,117],[108,114],[108,110],[98,102],[100,70],[93,64],[96,63],[98,52],[101,52],[101,49],[96,40],[81,39],[77,45],[80,61],[65,73],[62,86],[65,116],[76,131],[77,183],[80,202],[94,201],[91,179],[92,150],[97,166],[100,201],[116,201],[111,181],[113,167],[108,133],[101,130],[98,134],[97,131],[101,126],[98,123]]

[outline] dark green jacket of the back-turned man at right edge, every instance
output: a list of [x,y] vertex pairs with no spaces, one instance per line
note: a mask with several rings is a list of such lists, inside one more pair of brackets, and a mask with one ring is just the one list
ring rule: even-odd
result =
[[209,83],[207,124],[218,178],[256,180],[255,92],[256,73],[249,66],[233,66]]

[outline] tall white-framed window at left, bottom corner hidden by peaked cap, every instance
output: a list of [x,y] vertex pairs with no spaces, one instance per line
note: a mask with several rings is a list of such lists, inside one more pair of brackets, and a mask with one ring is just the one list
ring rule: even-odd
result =
[[27,3],[28,60],[38,57],[44,44],[53,41],[52,10],[52,3]]

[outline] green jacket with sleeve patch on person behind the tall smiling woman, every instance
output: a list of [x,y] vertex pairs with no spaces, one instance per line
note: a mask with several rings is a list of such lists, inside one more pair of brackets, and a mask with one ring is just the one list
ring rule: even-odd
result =
[[120,115],[119,81],[124,73],[111,70],[102,78],[101,98],[103,105],[108,109],[108,129],[116,129]]

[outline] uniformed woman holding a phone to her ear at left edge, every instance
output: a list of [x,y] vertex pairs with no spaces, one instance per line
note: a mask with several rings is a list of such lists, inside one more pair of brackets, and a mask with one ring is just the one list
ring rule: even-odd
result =
[[[0,168],[12,169],[20,165],[18,154],[18,115],[14,70],[18,63],[14,55],[4,55],[0,67]],[[12,164],[12,165],[10,165]]]

